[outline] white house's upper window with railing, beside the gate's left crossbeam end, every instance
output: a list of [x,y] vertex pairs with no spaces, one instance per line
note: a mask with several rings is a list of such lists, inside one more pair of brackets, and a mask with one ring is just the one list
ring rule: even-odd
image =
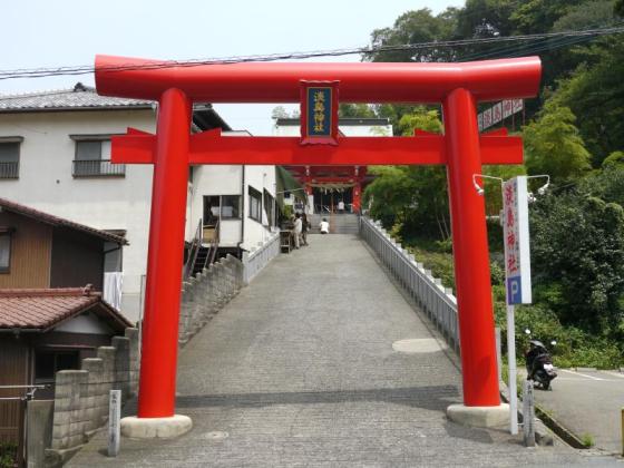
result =
[[76,142],[74,177],[125,176],[125,164],[110,163],[109,136],[74,135],[70,137]]

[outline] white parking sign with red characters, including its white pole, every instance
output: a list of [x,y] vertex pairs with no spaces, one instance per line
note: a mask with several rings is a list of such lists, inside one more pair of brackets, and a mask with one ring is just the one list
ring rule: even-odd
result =
[[514,304],[529,304],[530,254],[528,233],[527,177],[503,183],[503,238],[505,243],[505,289],[507,298],[507,360],[509,365],[510,431],[518,433],[516,387],[516,324]]

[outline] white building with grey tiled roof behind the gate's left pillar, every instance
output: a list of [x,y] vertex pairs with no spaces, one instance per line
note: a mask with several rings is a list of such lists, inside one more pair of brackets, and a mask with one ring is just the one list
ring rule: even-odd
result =
[[[147,264],[153,167],[110,164],[110,136],[127,127],[154,133],[155,103],[100,97],[80,84],[0,96],[0,197],[125,234],[129,245],[123,257],[107,256],[105,271],[123,272],[121,311],[136,320]],[[194,107],[193,127],[231,130],[209,105]],[[274,166],[193,167],[186,240],[193,240],[201,220],[212,217],[221,218],[220,247],[237,253],[257,246],[275,224],[274,197]]]

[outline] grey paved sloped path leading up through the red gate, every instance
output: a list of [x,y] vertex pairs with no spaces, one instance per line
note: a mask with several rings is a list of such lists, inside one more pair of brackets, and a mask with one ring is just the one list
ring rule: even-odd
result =
[[[168,441],[104,433],[71,466],[447,467],[605,466],[560,443],[527,450],[504,430],[445,418],[460,374],[364,244],[313,235],[281,255],[185,348],[179,413],[193,430]],[[429,342],[431,343],[431,342]]]

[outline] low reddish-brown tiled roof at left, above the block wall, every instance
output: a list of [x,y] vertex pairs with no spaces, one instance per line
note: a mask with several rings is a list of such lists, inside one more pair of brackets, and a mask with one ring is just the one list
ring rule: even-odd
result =
[[98,314],[116,329],[131,326],[121,314],[86,287],[0,290],[0,329],[47,331],[98,304]]

